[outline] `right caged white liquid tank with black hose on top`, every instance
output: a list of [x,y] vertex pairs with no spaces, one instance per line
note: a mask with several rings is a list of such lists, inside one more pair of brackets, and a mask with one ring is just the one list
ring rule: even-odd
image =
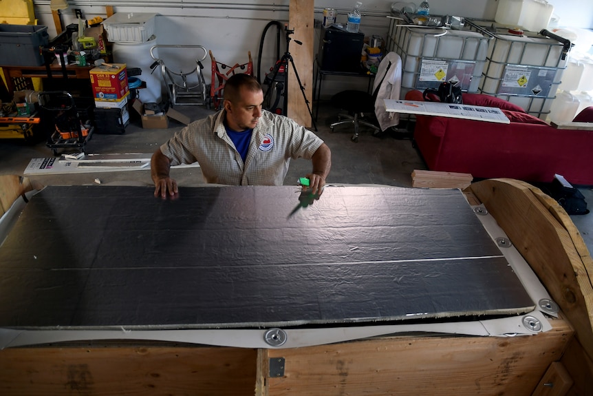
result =
[[514,35],[492,23],[486,28],[466,20],[466,25],[493,37],[479,92],[504,98],[545,120],[568,63],[570,41],[536,33]]

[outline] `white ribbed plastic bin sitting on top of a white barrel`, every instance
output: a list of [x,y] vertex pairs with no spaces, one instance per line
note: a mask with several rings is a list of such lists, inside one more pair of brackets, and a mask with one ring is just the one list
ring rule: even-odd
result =
[[155,32],[157,14],[147,12],[116,12],[103,21],[107,39],[112,43],[144,43]]

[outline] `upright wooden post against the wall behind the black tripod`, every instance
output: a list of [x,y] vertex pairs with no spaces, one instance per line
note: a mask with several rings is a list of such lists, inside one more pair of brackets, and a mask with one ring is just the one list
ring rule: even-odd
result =
[[[313,95],[313,47],[314,47],[314,0],[290,0],[288,7],[289,19],[288,28],[294,29],[294,34],[291,35],[290,53],[294,59],[294,67],[297,69],[299,79],[305,90],[304,96],[299,81],[294,74],[292,66],[288,67],[288,109],[287,113],[290,118],[297,123],[311,127],[312,119],[307,108],[312,105]],[[294,41],[301,41],[302,45],[298,45]]]

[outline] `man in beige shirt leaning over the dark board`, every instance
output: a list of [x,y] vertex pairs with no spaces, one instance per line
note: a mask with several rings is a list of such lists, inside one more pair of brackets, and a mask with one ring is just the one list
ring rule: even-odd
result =
[[263,110],[263,91],[248,74],[224,85],[224,109],[177,132],[153,154],[155,196],[175,196],[171,165],[200,163],[208,183],[282,185],[290,159],[312,161],[312,194],[321,194],[332,165],[330,147],[290,118]]

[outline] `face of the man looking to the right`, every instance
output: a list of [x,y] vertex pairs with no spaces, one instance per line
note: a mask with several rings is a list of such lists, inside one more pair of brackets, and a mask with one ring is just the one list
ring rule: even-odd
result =
[[236,103],[224,101],[228,127],[237,132],[255,128],[261,116],[262,103],[263,92],[261,90],[251,92],[241,87],[241,90],[239,90],[239,101]]

